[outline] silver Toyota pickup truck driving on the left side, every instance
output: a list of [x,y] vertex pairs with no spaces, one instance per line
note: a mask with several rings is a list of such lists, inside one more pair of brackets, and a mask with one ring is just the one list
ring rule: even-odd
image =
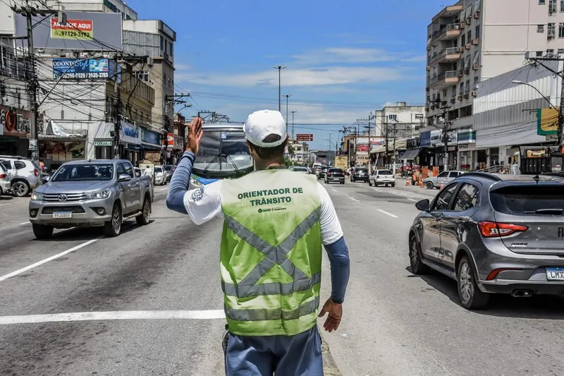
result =
[[33,233],[49,238],[53,229],[103,226],[118,236],[125,219],[149,224],[153,187],[150,176],[137,176],[131,163],[94,159],[63,164],[30,200]]

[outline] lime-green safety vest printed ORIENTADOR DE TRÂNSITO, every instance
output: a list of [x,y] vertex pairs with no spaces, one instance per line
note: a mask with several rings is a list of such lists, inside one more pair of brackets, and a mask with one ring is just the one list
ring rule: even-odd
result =
[[293,336],[316,325],[321,286],[317,179],[286,169],[221,182],[221,286],[229,330]]

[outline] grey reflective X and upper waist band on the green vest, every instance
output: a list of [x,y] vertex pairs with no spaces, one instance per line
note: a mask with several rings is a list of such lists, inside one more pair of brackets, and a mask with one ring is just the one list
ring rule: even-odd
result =
[[[290,253],[290,250],[294,248],[295,243],[297,243],[314,224],[319,222],[319,209],[309,214],[278,247],[267,243],[256,234],[252,234],[249,229],[235,221],[235,219],[226,215],[225,220],[231,231],[266,256],[259,262],[255,269],[252,269],[252,271],[239,282],[239,284],[226,284],[222,282],[223,293],[226,293],[226,295],[237,296],[238,298],[274,295],[277,293],[290,295],[298,291],[311,289],[314,284],[319,284],[321,281],[321,273],[316,273],[312,278],[309,278],[286,257],[286,255]],[[281,260],[281,262],[274,262],[272,260]],[[257,281],[276,264],[280,265],[284,272],[293,277],[293,282],[288,284],[257,284]]]

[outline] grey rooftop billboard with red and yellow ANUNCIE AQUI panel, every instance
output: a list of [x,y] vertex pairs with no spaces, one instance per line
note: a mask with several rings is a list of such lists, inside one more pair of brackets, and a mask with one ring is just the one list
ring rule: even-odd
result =
[[[33,46],[50,49],[78,49],[80,51],[121,51],[123,49],[121,13],[65,12],[67,22],[59,23],[57,15],[44,19],[32,17]],[[16,15],[16,37],[27,37],[24,16]],[[19,47],[27,47],[27,40],[16,40]]]

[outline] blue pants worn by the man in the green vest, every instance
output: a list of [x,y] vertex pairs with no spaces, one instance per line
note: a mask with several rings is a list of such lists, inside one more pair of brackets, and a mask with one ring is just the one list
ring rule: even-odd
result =
[[317,326],[295,336],[229,334],[227,376],[321,376],[321,336]]

